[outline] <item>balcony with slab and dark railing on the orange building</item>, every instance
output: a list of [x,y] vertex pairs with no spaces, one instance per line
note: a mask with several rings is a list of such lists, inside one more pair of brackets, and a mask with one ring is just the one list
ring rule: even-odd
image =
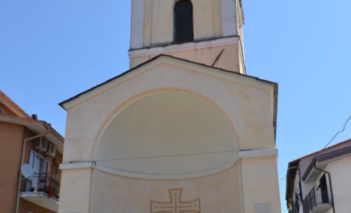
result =
[[30,179],[22,179],[20,198],[36,205],[58,212],[60,182],[48,174],[34,174]]

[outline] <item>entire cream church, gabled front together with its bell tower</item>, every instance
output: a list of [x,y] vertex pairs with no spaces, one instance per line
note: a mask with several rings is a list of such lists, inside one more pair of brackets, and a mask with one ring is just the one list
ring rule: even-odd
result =
[[131,69],[67,99],[58,212],[281,212],[277,83],[237,0],[133,0]]

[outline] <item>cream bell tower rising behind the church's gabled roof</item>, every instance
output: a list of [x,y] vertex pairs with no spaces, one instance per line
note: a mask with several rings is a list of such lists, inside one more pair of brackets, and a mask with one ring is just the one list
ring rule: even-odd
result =
[[132,0],[130,67],[164,54],[246,74],[241,0]]

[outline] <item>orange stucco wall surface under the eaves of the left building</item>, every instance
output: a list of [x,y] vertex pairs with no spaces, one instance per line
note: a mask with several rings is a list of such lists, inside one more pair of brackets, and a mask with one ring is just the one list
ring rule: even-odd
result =
[[[4,107],[5,108],[5,107]],[[0,206],[1,212],[12,213],[15,212],[17,193],[18,193],[18,177],[20,175],[20,163],[22,157],[23,141],[26,138],[33,137],[35,134],[23,125],[0,122],[0,144],[4,149],[0,150],[1,173],[0,182],[4,183],[0,191]],[[30,151],[34,150],[33,140],[27,142],[25,150],[25,163],[29,163]],[[59,165],[62,162],[62,154],[55,152],[55,158],[46,158],[49,161],[49,171],[51,174],[53,164]],[[28,202],[20,198],[19,212],[51,212],[50,210],[40,207],[39,205]]]

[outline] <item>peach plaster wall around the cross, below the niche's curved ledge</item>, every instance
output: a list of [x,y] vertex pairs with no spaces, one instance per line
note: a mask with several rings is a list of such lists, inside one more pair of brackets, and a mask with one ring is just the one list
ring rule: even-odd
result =
[[[184,201],[200,198],[201,212],[244,212],[241,209],[239,166],[206,177],[183,180],[145,180],[93,172],[92,212],[150,213],[150,201],[169,202],[168,189],[183,188]],[[275,212],[274,212],[275,213]],[[278,213],[278,212],[277,212]]]

